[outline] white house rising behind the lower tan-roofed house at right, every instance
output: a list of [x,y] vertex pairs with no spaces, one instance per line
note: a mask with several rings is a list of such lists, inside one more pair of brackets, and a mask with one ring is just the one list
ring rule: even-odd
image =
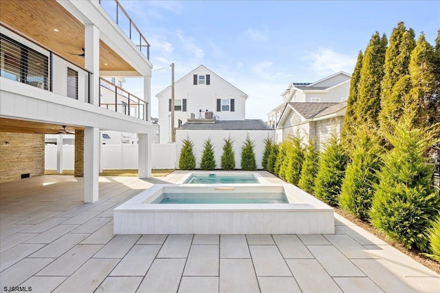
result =
[[350,79],[351,75],[349,73],[340,71],[317,82],[290,83],[288,88],[281,93],[283,103],[267,114],[267,124],[272,128],[276,128],[276,141],[283,141],[285,137],[281,129],[285,129],[287,126],[278,124],[287,103],[340,103],[347,101],[350,91]]

